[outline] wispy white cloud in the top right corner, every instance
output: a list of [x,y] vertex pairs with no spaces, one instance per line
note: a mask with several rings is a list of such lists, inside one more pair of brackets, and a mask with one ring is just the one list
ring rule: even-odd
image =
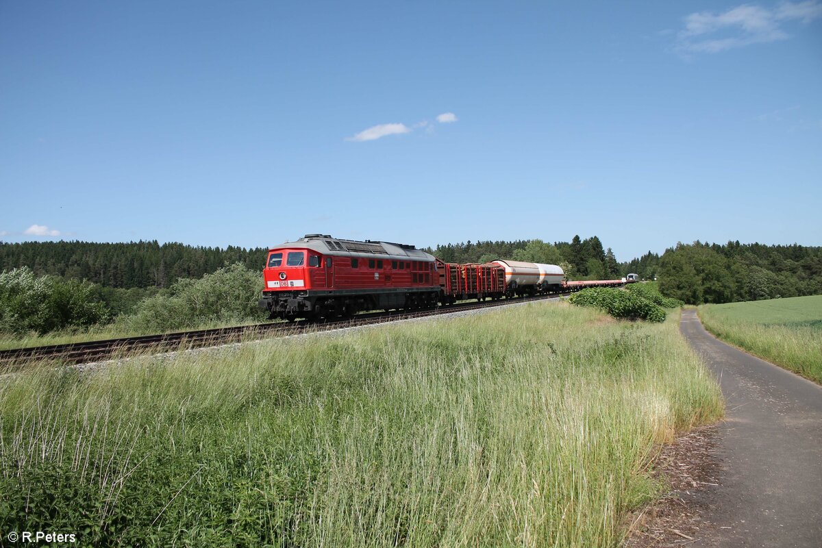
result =
[[[820,16],[819,0],[782,2],[772,10],[742,4],[719,14],[691,13],[685,17],[685,28],[677,34],[676,49],[680,53],[719,53],[784,40],[790,35],[782,29],[783,21],[810,23]],[[723,37],[718,38],[718,33],[723,33]]]

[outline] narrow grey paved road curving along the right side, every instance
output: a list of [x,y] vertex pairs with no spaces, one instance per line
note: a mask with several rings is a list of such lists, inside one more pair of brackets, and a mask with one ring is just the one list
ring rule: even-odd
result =
[[822,546],[822,387],[713,338],[695,311],[680,329],[727,400],[719,487],[697,497],[716,527],[692,546]]

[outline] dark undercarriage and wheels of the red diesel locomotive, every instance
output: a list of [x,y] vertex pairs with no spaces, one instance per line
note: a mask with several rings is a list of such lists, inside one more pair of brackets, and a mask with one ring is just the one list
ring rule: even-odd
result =
[[350,316],[360,311],[414,309],[436,306],[438,290],[386,292],[294,291],[264,292],[259,306],[269,319],[296,320]]

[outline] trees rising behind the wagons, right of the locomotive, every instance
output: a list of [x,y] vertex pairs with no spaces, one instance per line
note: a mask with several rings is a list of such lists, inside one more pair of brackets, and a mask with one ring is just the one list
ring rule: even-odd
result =
[[616,279],[628,274],[617,262],[609,247],[596,236],[581,239],[578,235],[570,242],[547,243],[542,240],[515,240],[512,242],[460,242],[423,248],[450,263],[485,263],[495,259],[524,260],[549,265],[560,265],[569,279]]

